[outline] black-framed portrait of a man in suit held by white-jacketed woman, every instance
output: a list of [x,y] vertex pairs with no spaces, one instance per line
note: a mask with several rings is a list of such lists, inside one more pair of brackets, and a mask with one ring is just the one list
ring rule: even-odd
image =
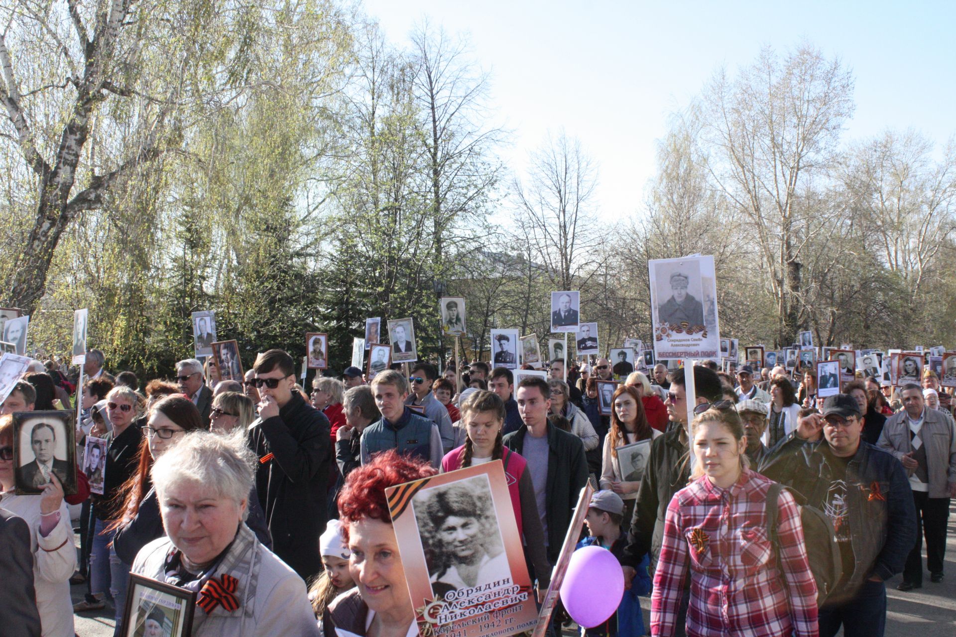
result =
[[63,493],[76,493],[76,443],[73,411],[13,414],[13,464],[17,494],[38,494],[51,474]]

